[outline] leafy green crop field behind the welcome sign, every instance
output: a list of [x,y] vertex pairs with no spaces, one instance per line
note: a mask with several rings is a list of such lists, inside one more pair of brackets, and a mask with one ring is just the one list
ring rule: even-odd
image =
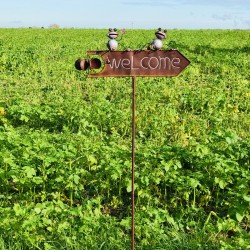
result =
[[[130,249],[131,78],[74,68],[106,33],[0,29],[0,250]],[[191,64],[137,77],[136,249],[250,249],[250,31],[165,43]]]

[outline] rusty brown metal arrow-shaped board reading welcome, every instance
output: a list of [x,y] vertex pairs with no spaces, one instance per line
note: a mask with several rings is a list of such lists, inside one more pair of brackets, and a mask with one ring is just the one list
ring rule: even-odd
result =
[[89,77],[177,76],[190,64],[178,50],[88,51],[87,54],[101,57],[102,62],[92,59],[93,65],[104,64],[100,72],[90,72]]

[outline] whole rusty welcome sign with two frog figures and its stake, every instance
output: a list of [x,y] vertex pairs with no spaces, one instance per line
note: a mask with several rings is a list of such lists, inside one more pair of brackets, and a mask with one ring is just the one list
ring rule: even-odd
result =
[[[125,30],[122,30],[122,35]],[[78,70],[89,70],[88,77],[132,77],[132,223],[131,249],[134,250],[134,210],[135,210],[135,111],[136,111],[136,76],[164,77],[178,76],[190,61],[178,50],[161,50],[166,30],[160,28],[154,39],[144,50],[117,50],[118,32],[109,29],[107,36],[108,50],[87,51],[90,59],[78,59],[75,67]]]

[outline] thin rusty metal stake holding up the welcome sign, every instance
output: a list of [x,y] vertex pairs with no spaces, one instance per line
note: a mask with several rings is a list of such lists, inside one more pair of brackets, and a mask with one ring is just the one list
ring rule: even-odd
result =
[[131,249],[135,249],[135,111],[136,111],[136,77],[132,77],[132,223]]

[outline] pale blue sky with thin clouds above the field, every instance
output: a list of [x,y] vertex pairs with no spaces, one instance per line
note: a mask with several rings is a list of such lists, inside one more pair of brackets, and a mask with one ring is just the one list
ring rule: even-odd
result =
[[0,27],[250,29],[250,0],[0,0]]

